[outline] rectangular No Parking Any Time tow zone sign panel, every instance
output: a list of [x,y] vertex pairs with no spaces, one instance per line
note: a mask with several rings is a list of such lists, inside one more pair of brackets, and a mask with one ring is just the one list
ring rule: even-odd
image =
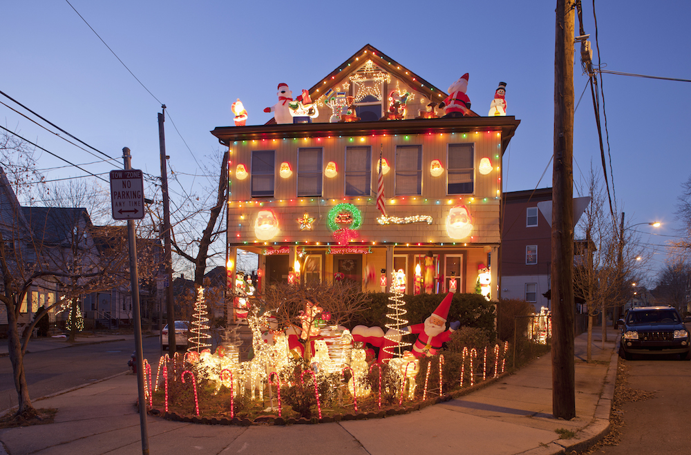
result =
[[111,171],[113,220],[141,220],[144,217],[144,178],[140,169]]

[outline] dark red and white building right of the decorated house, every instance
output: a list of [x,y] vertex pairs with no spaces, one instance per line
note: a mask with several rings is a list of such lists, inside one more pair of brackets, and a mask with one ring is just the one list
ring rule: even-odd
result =
[[[551,309],[551,201],[552,188],[504,193],[502,298],[526,300],[538,312]],[[574,199],[574,225],[589,202],[589,197]],[[574,240],[574,264],[584,260],[583,244],[585,240]]]

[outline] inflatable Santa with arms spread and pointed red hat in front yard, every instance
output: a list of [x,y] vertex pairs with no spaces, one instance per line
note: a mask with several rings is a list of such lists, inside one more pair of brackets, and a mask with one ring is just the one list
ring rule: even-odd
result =
[[439,307],[433,311],[429,318],[422,324],[411,325],[403,329],[404,332],[418,333],[417,340],[413,344],[415,357],[435,356],[442,349],[442,344],[451,338],[451,333],[461,327],[460,321],[451,322],[446,330],[446,318],[451,307],[453,293],[446,294]]

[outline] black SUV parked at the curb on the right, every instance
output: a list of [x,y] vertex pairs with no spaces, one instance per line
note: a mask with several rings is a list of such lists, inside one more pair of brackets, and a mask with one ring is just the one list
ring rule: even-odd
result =
[[681,360],[689,358],[689,333],[676,309],[633,308],[619,323],[623,327],[621,354],[625,359],[631,360],[633,354],[679,354]]

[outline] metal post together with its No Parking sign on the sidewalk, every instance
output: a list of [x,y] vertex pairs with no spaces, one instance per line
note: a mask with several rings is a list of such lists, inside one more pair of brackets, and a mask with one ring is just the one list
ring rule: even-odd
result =
[[[131,169],[129,148],[122,149],[124,171],[111,171],[111,206],[113,219],[127,220],[129,240],[130,283],[134,319],[134,343],[137,356],[137,389],[139,419],[142,430],[142,455],[149,455],[149,429],[146,425],[146,396],[144,395],[144,348],[142,347],[142,315],[139,301],[139,276],[137,270],[137,240],[134,220],[144,217],[144,180],[142,171]],[[149,391],[151,393],[151,391]]]

